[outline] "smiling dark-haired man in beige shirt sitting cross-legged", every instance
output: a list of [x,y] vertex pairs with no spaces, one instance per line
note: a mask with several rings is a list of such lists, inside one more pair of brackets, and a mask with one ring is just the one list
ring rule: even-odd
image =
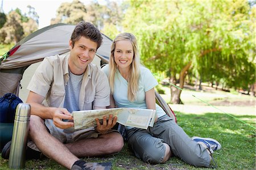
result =
[[108,78],[90,64],[101,43],[100,31],[80,22],[69,40],[70,54],[46,57],[27,88],[30,139],[44,155],[68,169],[104,169],[109,165],[85,163],[78,157],[114,154],[123,147],[122,136],[111,130],[117,122],[112,115],[108,121],[104,117],[102,124],[96,119],[95,131],[73,129],[72,111],[110,105]]

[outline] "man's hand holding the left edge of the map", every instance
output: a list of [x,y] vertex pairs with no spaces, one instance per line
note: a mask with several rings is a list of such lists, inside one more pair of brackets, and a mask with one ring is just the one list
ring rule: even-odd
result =
[[[63,119],[68,119],[69,121],[64,122]],[[59,128],[69,128],[74,126],[71,113],[69,113],[69,111],[64,108],[54,108],[52,110],[52,120],[54,125]]]

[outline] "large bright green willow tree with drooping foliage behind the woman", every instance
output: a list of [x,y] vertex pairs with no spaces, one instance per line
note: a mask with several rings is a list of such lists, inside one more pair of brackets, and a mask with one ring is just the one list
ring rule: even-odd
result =
[[153,72],[167,73],[171,102],[180,103],[181,90],[173,85],[183,88],[192,68],[209,75],[205,68],[213,64],[248,60],[252,47],[248,40],[253,36],[250,10],[247,1],[131,1],[123,26],[137,36],[143,64]]

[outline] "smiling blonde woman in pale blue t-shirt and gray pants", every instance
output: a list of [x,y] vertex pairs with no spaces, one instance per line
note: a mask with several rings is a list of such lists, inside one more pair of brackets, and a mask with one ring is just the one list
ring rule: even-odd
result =
[[152,73],[140,64],[137,40],[133,34],[119,34],[113,41],[109,65],[102,68],[109,77],[110,107],[154,109],[158,115],[147,130],[126,127],[128,146],[135,156],[148,163],[164,163],[171,155],[196,167],[209,167],[210,151],[221,148],[210,138],[190,138],[163,109],[155,103]]

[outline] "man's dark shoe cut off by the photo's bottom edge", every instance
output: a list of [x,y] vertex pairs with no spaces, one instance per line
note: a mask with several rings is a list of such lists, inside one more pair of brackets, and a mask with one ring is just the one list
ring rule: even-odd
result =
[[112,163],[86,163],[83,160],[76,161],[71,170],[110,170]]

